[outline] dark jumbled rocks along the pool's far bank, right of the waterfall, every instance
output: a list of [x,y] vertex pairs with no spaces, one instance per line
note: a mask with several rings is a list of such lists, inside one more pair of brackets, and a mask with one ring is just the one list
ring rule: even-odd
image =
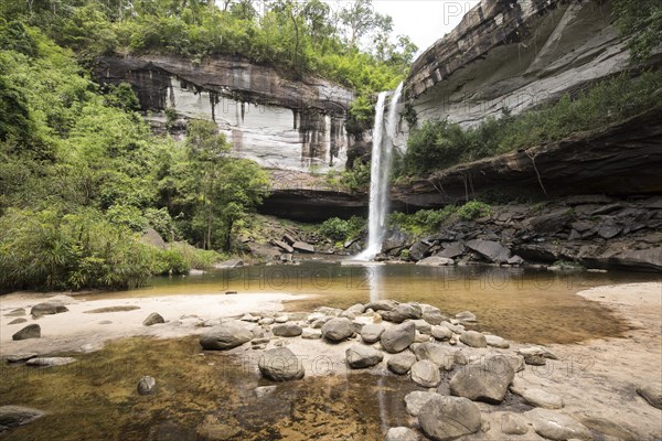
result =
[[436,266],[567,261],[596,269],[662,271],[661,245],[662,196],[621,201],[584,195],[537,206],[493,206],[491,215],[455,219],[424,238],[391,230],[377,259]]

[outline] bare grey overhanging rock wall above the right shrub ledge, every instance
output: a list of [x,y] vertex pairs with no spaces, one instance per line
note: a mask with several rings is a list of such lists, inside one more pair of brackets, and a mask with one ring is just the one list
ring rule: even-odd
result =
[[610,0],[482,0],[414,63],[407,99],[419,120],[471,126],[627,71],[611,9]]

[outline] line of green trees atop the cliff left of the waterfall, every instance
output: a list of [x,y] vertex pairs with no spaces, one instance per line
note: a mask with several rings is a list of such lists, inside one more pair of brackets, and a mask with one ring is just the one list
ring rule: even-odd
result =
[[[86,62],[113,53],[157,53],[200,64],[225,54],[277,66],[292,77],[323,76],[354,89],[360,99],[351,116],[366,127],[372,95],[395,88],[417,51],[407,36],[392,37],[393,20],[375,13],[371,0],[342,9],[320,0],[0,0],[0,10],[8,21],[39,25]],[[20,29],[10,31],[11,43]],[[371,52],[361,50],[367,39]]]

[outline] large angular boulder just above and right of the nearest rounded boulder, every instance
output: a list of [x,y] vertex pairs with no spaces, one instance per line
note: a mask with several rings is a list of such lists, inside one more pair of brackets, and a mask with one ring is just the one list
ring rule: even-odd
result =
[[462,367],[450,379],[450,392],[472,401],[500,404],[514,377],[506,357],[492,357],[488,363]]

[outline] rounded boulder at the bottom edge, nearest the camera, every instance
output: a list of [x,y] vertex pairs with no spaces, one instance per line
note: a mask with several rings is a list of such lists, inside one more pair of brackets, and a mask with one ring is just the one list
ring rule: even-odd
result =
[[455,440],[480,430],[480,410],[467,398],[433,397],[418,412],[418,424],[433,440]]

